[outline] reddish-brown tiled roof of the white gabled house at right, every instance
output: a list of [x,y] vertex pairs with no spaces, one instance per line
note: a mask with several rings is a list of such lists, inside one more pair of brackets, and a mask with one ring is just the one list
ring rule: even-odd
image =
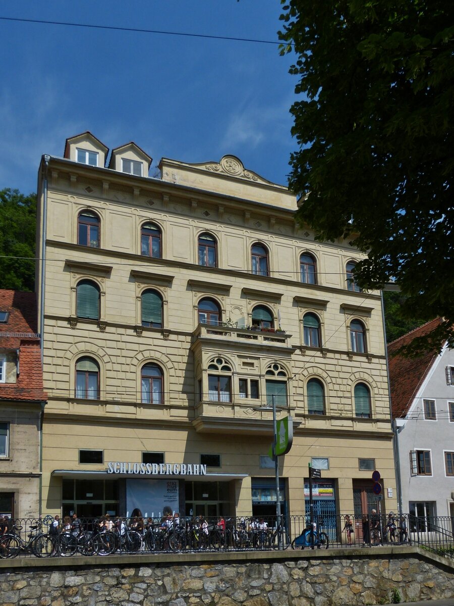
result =
[[406,358],[397,352],[404,345],[409,345],[413,339],[431,333],[441,322],[441,318],[436,318],[388,345],[391,410],[394,419],[407,414],[416,392],[437,356],[436,351],[427,351],[418,358]]

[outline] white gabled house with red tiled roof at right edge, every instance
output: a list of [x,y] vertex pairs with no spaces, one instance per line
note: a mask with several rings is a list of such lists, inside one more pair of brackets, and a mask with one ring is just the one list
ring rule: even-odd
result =
[[401,507],[425,531],[432,516],[454,516],[454,350],[419,358],[398,353],[427,335],[440,318],[388,346],[393,419],[400,469]]

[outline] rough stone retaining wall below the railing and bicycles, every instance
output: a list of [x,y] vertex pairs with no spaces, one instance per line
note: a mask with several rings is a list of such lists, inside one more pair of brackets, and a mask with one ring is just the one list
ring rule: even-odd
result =
[[[417,548],[0,561],[1,606],[334,606],[454,596],[454,567]],[[200,554],[202,555],[202,554]],[[209,562],[209,563],[208,563]]]

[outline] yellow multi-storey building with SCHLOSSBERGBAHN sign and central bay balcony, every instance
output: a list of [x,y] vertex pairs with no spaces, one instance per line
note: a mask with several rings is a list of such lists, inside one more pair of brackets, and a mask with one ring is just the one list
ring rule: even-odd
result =
[[[275,513],[272,414],[290,415],[283,513],[396,510],[380,293],[360,254],[234,156],[185,164],[90,133],[39,170],[42,510]],[[306,479],[306,487],[305,487]]]

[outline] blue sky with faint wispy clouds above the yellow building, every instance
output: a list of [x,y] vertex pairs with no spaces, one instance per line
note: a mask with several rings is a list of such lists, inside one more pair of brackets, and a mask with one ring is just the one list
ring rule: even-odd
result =
[[[277,40],[278,0],[16,0],[0,17]],[[239,156],[286,184],[296,78],[277,45],[0,19],[0,189],[36,191],[43,153],[90,130],[153,158]]]

